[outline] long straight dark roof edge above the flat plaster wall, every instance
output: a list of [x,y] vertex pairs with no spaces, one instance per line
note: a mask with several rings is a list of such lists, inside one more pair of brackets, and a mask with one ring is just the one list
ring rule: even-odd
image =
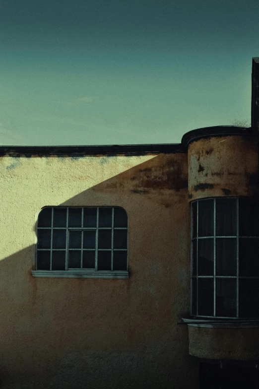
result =
[[148,153],[186,153],[181,143],[114,144],[93,146],[0,146],[0,155],[141,155]]

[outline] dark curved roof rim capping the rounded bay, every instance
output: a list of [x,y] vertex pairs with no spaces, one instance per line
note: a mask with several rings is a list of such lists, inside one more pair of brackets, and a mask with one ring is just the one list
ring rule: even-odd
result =
[[190,143],[201,138],[210,138],[212,136],[227,136],[227,135],[244,135],[244,136],[257,136],[255,131],[251,127],[236,127],[236,126],[214,126],[203,127],[189,131],[182,137],[182,145],[188,147]]

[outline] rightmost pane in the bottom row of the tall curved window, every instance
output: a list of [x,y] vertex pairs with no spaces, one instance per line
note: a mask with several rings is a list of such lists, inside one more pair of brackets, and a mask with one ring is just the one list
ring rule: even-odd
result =
[[240,318],[259,318],[259,280],[239,280]]

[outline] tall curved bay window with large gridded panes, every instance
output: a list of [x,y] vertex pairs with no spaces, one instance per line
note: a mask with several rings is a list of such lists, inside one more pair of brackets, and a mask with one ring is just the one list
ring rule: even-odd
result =
[[217,197],[191,205],[191,314],[259,318],[259,201]]

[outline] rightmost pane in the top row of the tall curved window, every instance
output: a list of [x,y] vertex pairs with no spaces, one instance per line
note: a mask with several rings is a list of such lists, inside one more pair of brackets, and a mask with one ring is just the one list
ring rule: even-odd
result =
[[259,236],[259,201],[239,199],[239,235]]

